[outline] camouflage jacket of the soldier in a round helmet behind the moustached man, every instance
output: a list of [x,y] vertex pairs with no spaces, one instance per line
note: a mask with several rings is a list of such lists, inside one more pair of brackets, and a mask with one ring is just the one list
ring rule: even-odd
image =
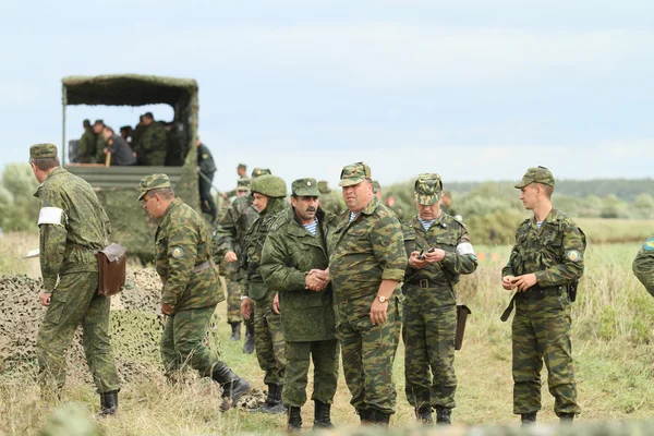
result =
[[246,286],[243,295],[253,300],[262,300],[268,294],[262,277],[262,251],[268,237],[270,226],[277,219],[277,215],[283,213],[286,203],[283,198],[268,198],[268,205],[259,217],[250,226],[245,237],[241,241],[241,267],[247,271]]

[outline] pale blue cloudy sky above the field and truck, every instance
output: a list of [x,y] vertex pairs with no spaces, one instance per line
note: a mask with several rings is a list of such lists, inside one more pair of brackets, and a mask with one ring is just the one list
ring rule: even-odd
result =
[[[195,78],[215,184],[239,162],[335,185],[367,162],[383,185],[647,178],[654,162],[652,1],[1,0],[0,168],[61,144],[61,78]],[[68,109],[117,128],[166,106]]]

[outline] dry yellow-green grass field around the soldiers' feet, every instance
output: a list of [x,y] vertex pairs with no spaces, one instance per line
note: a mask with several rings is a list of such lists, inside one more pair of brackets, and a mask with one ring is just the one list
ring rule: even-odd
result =
[[[34,249],[34,237],[5,235],[0,250],[24,255]],[[645,419],[654,415],[654,299],[631,274],[638,243],[593,244],[586,252],[586,269],[572,311],[572,344],[580,422]],[[510,247],[476,247],[486,254],[477,271],[459,287],[459,300],[472,310],[463,349],[457,352],[458,407],[452,419],[458,424],[514,424],[512,414],[510,320],[499,315],[510,293],[499,286],[500,270]],[[36,261],[20,261],[1,272],[35,272]],[[8,269],[5,269],[8,268]],[[13,268],[13,269],[12,269]],[[38,271],[38,268],[36,268]],[[36,295],[35,295],[36,298]],[[225,313],[223,304],[219,308]],[[241,353],[242,342],[227,340],[229,326],[220,325],[225,360],[240,375],[263,389],[263,373],[254,355]],[[403,349],[395,365],[398,413],[391,426],[413,425],[413,412],[403,393]],[[546,376],[544,374],[544,380]],[[544,382],[545,383],[545,382]],[[338,426],[355,426],[358,416],[349,405],[349,392],[340,379],[334,405]],[[98,398],[93,387],[69,383],[64,402],[81,402],[93,416]],[[107,435],[187,435],[255,432],[277,434],[284,429],[284,416],[252,414],[241,410],[218,413],[219,391],[208,380],[192,380],[183,387],[169,387],[162,377],[135,380],[123,386],[120,414],[100,422]],[[557,422],[553,399],[543,386],[540,422]],[[39,402],[38,387],[26,374],[0,386],[0,434],[34,434],[52,407]],[[313,420],[313,404],[303,409],[305,427]]]

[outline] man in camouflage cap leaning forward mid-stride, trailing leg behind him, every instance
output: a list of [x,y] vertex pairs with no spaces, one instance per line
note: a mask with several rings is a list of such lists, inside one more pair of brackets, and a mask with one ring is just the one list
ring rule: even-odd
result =
[[161,336],[161,358],[167,375],[189,364],[201,376],[222,387],[220,411],[229,410],[250,389],[219,355],[203,341],[216,311],[225,300],[211,263],[211,240],[202,217],[174,197],[166,174],[141,180],[143,208],[158,222],[155,265],[161,277],[161,312],[168,315]]

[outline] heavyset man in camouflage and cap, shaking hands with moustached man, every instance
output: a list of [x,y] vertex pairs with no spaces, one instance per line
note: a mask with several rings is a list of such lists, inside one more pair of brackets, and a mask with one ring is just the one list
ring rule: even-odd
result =
[[388,425],[395,413],[392,363],[401,329],[407,255],[400,222],[373,194],[371,169],[348,165],[339,183],[348,210],[330,238],[329,274],[351,404],[362,423]]

